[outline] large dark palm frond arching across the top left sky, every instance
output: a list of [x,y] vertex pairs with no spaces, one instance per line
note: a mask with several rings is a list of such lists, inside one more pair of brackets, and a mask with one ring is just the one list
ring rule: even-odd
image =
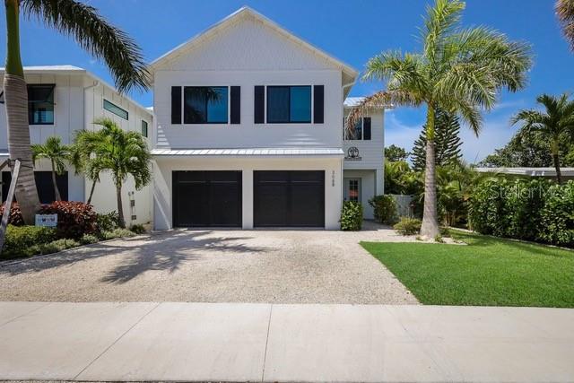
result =
[[140,48],[91,5],[75,0],[21,0],[21,4],[25,15],[73,37],[91,56],[103,59],[118,91],[148,88],[149,74]]

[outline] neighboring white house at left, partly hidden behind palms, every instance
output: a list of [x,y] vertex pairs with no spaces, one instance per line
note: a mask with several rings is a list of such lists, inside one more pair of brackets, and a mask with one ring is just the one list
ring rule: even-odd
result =
[[[118,94],[112,86],[82,68],[72,65],[27,66],[24,75],[28,83],[32,144],[42,144],[50,135],[58,135],[64,144],[71,144],[78,130],[99,129],[92,122],[100,117],[112,118],[123,129],[151,135],[150,110]],[[0,83],[3,77],[4,68],[0,68]],[[4,96],[0,88],[0,161],[8,158],[7,148]],[[48,161],[37,163],[35,168],[40,200],[43,203],[51,202],[54,191]],[[10,182],[7,169],[2,172],[2,181],[4,201]],[[89,196],[91,181],[75,175],[71,167],[63,176],[58,176],[57,183],[63,199],[85,201]],[[91,201],[96,211],[107,213],[117,210],[114,190],[109,173],[102,174]],[[150,191],[151,186],[136,191],[134,180],[128,179],[123,188],[127,224],[152,221]]]

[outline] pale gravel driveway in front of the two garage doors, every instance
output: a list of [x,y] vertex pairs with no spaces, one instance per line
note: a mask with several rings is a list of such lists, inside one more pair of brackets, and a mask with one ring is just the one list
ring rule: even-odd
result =
[[164,231],[0,265],[0,300],[416,304],[342,231]]

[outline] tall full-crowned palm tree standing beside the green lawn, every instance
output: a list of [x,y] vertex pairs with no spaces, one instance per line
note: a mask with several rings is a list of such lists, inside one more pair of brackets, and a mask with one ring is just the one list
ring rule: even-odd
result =
[[530,48],[486,27],[463,29],[465,3],[436,0],[428,7],[422,28],[422,52],[387,51],[367,63],[363,79],[387,81],[353,109],[347,122],[380,105],[426,106],[426,166],[421,234],[439,234],[435,184],[435,110],[456,114],[474,131],[481,130],[481,110],[492,109],[502,89],[517,91],[526,83],[531,66]]

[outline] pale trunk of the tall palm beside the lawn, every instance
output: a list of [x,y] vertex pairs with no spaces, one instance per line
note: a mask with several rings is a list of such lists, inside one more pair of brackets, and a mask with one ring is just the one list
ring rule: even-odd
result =
[[424,170],[424,208],[422,211],[421,235],[434,239],[439,235],[439,218],[437,214],[437,185],[434,143],[434,109],[427,110],[427,145],[426,165]]

